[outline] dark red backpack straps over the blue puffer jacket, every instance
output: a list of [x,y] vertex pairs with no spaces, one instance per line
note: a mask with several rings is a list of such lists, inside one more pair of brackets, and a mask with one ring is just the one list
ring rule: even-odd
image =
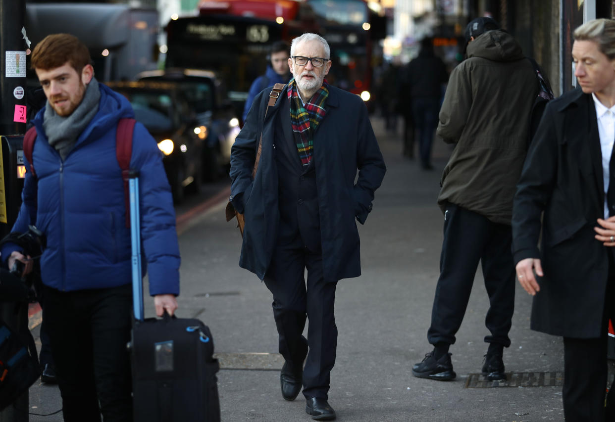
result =
[[[132,156],[132,134],[135,128],[135,119],[119,119],[116,132],[116,157],[119,168],[122,169],[122,179],[124,180],[124,202],[126,206],[126,227],[130,227],[130,198],[128,189],[128,175],[130,171],[130,157]],[[36,179],[34,163],[32,162],[32,152],[34,150],[34,140],[36,139],[36,127],[31,127],[23,137],[23,155],[30,163],[30,173]]]

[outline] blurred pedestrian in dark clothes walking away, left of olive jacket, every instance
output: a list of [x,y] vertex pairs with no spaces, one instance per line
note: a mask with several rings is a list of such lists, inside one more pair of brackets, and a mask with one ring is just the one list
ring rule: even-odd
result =
[[[407,64],[403,73],[407,85],[410,86],[408,95],[412,104],[412,120],[418,131],[421,168],[432,170],[434,167],[431,165],[431,147],[435,128],[438,126],[442,84],[448,80],[446,65],[435,55],[432,38],[427,37],[421,41],[418,57]],[[413,154],[414,152],[409,153],[410,156]]]

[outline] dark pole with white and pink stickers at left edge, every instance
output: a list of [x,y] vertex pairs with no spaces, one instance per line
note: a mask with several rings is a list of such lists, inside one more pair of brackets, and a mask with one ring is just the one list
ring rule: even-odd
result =
[[[26,130],[25,0],[0,0],[0,135],[23,135]],[[5,172],[5,176],[7,176]],[[7,179],[6,177],[4,178]],[[28,306],[1,303],[0,318],[16,332],[28,329]],[[28,391],[0,412],[1,422],[28,422]]]

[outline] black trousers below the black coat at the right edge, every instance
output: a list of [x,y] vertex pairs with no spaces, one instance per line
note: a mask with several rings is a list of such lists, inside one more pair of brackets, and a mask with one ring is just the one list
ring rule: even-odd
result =
[[[613,394],[609,392],[609,413],[605,416],[608,319],[615,319],[615,265],[609,255],[609,284],[605,294],[605,316],[600,338],[564,337],[563,403],[566,422],[613,421]],[[611,386],[611,388],[614,388]]]

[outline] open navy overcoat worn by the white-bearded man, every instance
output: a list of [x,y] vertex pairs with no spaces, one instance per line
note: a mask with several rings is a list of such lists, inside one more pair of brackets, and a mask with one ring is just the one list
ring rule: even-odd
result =
[[[276,246],[280,209],[276,131],[287,121],[280,112],[288,112],[277,101],[264,119],[271,89],[256,96],[245,125],[231,149],[231,202],[244,211],[245,229],[239,265],[263,279]],[[281,95],[286,95],[286,88]],[[258,105],[258,106],[257,106]],[[322,238],[322,262],[325,280],[359,276],[359,232],[355,218],[364,223],[371,211],[374,192],[380,186],[386,167],[371,128],[367,107],[359,96],[329,87],[325,104],[327,114],[314,135],[314,160]],[[260,133],[263,147],[256,177],[252,168]],[[359,170],[359,177],[355,183]]]

